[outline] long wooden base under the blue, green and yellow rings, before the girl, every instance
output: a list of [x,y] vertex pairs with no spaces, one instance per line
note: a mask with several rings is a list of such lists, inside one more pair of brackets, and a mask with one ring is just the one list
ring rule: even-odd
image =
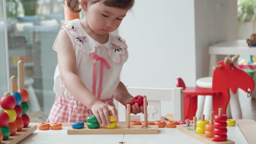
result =
[[117,128],[106,129],[100,127],[99,129],[89,129],[87,124],[84,123],[83,129],[73,129],[69,127],[67,130],[68,135],[89,135],[89,134],[158,134],[158,125],[148,125],[149,128],[143,128],[143,125],[131,125],[127,128],[126,122],[117,122]]

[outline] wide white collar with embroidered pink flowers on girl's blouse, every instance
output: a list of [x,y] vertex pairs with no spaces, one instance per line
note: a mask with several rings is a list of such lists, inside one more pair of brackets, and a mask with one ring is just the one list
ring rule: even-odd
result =
[[118,34],[109,33],[106,44],[100,44],[87,34],[79,19],[69,21],[62,26],[73,37],[73,42],[78,45],[79,49],[88,56],[92,56],[98,47],[104,47],[108,52],[108,57],[113,63],[121,63],[122,57],[127,53],[125,40]]

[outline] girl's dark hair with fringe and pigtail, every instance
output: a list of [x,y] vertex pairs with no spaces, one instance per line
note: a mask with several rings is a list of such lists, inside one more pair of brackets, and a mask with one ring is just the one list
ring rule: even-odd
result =
[[[135,0],[88,0],[91,1],[91,4],[95,4],[101,2],[102,4],[108,7],[114,7],[119,9],[130,9],[132,8]],[[79,13],[81,9],[79,9],[79,0],[64,0],[70,10],[74,13]]]

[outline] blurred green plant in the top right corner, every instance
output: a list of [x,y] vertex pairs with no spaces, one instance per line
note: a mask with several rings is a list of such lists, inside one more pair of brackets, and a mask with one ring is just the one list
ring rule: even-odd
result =
[[237,1],[238,21],[256,20],[256,0],[238,0]]

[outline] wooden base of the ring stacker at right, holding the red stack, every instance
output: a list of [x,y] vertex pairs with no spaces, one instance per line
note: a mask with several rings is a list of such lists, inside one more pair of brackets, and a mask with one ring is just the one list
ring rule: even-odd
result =
[[199,140],[203,143],[207,143],[207,144],[234,144],[234,141],[231,140],[227,140],[227,141],[222,141],[222,142],[217,142],[217,141],[212,141],[213,138],[208,138],[205,137],[205,134],[196,134],[196,131],[193,129],[193,125],[189,125],[189,127],[186,127],[185,124],[181,124],[181,125],[177,125],[176,126],[177,130],[181,131],[182,133],[193,137],[196,140]]

